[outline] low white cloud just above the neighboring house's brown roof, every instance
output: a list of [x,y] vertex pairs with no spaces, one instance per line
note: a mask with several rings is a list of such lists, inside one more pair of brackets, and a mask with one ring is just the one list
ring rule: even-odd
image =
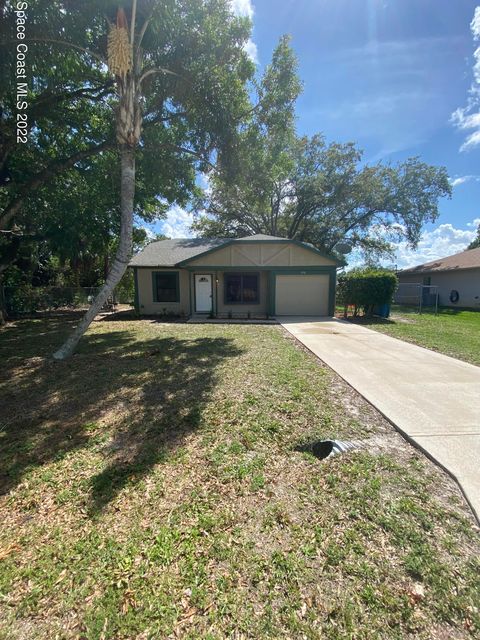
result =
[[422,233],[415,250],[410,249],[406,242],[396,243],[397,268],[414,267],[464,251],[476,237],[479,224],[480,218],[467,223],[467,229],[458,229],[450,223],[440,224],[435,229]]

